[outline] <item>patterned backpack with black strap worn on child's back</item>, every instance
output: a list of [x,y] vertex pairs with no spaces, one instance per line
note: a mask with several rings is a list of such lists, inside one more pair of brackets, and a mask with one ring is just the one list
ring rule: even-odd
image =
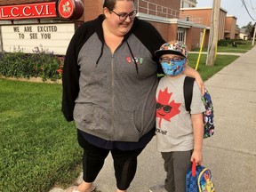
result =
[[[195,78],[186,76],[184,80],[184,99],[186,110],[190,112],[190,105],[193,96],[193,86]],[[209,92],[205,89],[204,96],[202,97],[205,112],[203,113],[204,118],[204,138],[211,137],[214,134],[214,123],[213,123],[213,105],[212,99]]]

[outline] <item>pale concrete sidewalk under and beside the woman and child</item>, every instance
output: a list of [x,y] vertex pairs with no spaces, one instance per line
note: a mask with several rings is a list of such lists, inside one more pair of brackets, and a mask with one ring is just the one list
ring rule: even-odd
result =
[[[255,55],[256,46],[205,82],[212,95],[215,135],[204,140],[204,165],[212,170],[217,192],[251,192],[256,188]],[[163,160],[154,138],[139,156],[138,170],[128,191],[148,192],[150,186],[163,183],[164,177]],[[95,185],[101,192],[116,192],[111,156]]]

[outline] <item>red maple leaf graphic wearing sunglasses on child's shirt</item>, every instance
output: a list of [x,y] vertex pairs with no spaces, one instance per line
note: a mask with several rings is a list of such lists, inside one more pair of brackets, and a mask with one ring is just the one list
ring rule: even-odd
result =
[[168,93],[168,88],[164,92],[160,90],[158,99],[156,98],[156,117],[159,117],[159,128],[161,128],[162,119],[171,122],[173,116],[180,114],[181,103],[175,103],[174,100],[170,101],[172,92]]

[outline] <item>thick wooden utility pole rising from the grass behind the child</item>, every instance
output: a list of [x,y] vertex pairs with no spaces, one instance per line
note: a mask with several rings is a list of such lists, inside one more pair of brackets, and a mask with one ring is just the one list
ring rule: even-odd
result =
[[215,50],[218,44],[219,26],[220,26],[220,0],[213,0],[212,4],[212,22],[210,29],[210,38],[207,52],[207,66],[213,66],[215,62]]

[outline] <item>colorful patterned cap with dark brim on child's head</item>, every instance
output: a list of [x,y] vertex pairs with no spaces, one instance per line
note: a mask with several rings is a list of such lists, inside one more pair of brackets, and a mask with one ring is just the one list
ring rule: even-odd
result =
[[163,44],[160,49],[155,52],[155,54],[158,58],[164,54],[178,54],[188,58],[188,47],[178,41],[171,41]]

